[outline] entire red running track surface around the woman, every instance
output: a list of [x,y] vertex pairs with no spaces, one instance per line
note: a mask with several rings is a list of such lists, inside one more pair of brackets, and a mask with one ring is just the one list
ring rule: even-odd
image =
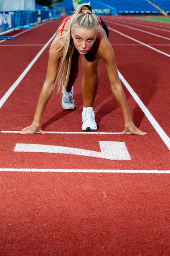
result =
[[[42,48],[36,45],[45,44],[60,21],[47,23],[20,35],[17,40],[8,43],[11,47],[0,47],[3,53],[1,96]],[[146,44],[156,44],[157,40],[158,44],[165,44],[163,38],[160,40],[137,31],[133,31],[132,35],[127,28],[111,23],[108,25]],[[136,42],[113,31],[110,31],[109,40],[113,44],[118,70],[169,135],[169,57],[136,45]],[[6,45],[7,42],[0,44]],[[13,44],[35,46],[14,47]],[[0,119],[3,120],[1,131],[19,131],[31,124],[45,79],[47,61],[48,48],[0,109]],[[99,76],[99,90],[94,105],[98,132],[122,131],[123,116],[111,93],[102,61]],[[62,109],[61,95],[51,97],[42,117],[45,131],[81,132],[81,79],[80,67],[74,85],[74,111]],[[142,131],[148,132],[147,136],[0,134],[1,255],[168,255],[170,174],[163,173],[163,170],[170,170],[169,150],[123,87],[133,121]],[[14,152],[17,143],[100,151],[99,141],[124,142],[131,160]],[[5,168],[12,172],[4,171]],[[34,169],[37,172],[22,172],[26,168],[27,171]],[[17,172],[17,169],[21,172]],[[51,172],[38,172],[40,169],[50,169]],[[65,172],[66,169],[68,172]],[[74,171],[71,172],[71,169]],[[90,173],[81,172],[81,169],[87,169]],[[100,171],[92,173],[93,169]],[[78,170],[79,173],[76,173]],[[104,173],[102,170],[110,171]],[[111,173],[111,170],[129,170],[129,173]],[[130,173],[130,170],[136,173]],[[140,173],[141,170],[162,170],[162,173]]]

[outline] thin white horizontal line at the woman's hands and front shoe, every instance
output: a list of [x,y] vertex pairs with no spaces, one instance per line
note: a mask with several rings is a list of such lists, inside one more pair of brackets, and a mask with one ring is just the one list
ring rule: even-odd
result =
[[[1,131],[1,133],[18,133],[19,131]],[[87,131],[45,131],[47,134],[120,134],[119,132]],[[39,133],[39,132],[36,132]]]

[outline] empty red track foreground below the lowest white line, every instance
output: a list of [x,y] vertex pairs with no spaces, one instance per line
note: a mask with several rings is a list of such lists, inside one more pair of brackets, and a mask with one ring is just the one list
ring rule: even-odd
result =
[[169,177],[1,173],[2,255],[167,256]]

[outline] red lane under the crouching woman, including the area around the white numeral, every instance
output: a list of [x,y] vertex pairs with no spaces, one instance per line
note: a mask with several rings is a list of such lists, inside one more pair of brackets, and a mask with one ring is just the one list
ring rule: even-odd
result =
[[[46,52],[45,55],[48,56],[48,53]],[[44,58],[45,55],[40,56],[40,59],[34,64],[34,68],[31,68],[1,108],[0,116],[2,116],[2,118],[4,118],[5,113],[8,113],[10,110],[8,118],[4,119],[4,122],[1,125],[1,130],[19,131],[21,128],[31,124],[37,106],[39,93],[45,79],[46,67],[40,65],[40,63],[42,63],[42,58]],[[37,73],[41,73],[42,75],[40,77],[35,76]],[[82,74],[81,67],[80,74]],[[113,94],[111,93],[109,81],[105,73],[105,67],[102,62],[99,65],[99,74],[99,90],[94,105],[94,109],[96,110],[96,122],[99,124],[98,131],[122,131],[124,127],[123,116],[116,100],[113,98]],[[82,131],[81,113],[83,102],[80,87],[81,79],[82,76],[80,75],[74,86],[76,109],[74,111],[63,110],[61,106],[62,95],[53,94],[45,109],[45,113],[42,116],[42,129],[45,129],[45,131]],[[30,90],[31,93],[28,93]],[[147,136],[132,137],[130,135],[107,135],[106,137],[106,135],[84,134],[36,134],[32,136],[21,134],[0,134],[2,140],[1,145],[3,145],[1,168],[20,168],[22,166],[21,168],[84,169],[84,166],[86,166],[87,169],[96,169],[97,166],[97,168],[102,169],[103,164],[105,163],[106,165],[107,163],[106,166],[108,169],[118,169],[118,166],[120,169],[141,169],[141,167],[142,169],[162,169],[162,167],[163,169],[168,169],[168,148],[144,116],[142,110],[140,110],[139,106],[136,105],[136,102],[125,87],[124,90],[130,107],[130,112],[133,113],[133,121],[142,131],[148,132]],[[16,97],[18,95],[21,95],[20,104],[18,104],[18,101],[16,102]],[[68,123],[69,125],[67,125]],[[11,138],[13,138],[13,144],[11,144]],[[132,158],[130,163],[129,161],[120,161],[120,163],[118,163],[119,161],[117,160],[100,160],[98,158],[91,157],[88,157],[89,160],[87,161],[87,157],[63,154],[57,154],[56,156],[56,154],[49,153],[36,154],[14,152],[16,143],[59,145],[100,151],[99,140],[124,141]],[[167,156],[167,158],[164,158],[163,156]],[[47,161],[44,161],[44,157]],[[17,162],[15,159],[17,159]],[[167,159],[167,161],[165,161],[165,159]]]

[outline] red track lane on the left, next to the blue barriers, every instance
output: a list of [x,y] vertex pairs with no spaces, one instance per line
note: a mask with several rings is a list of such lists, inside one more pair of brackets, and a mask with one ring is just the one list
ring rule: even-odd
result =
[[[8,45],[12,44],[46,44],[48,38],[50,38],[57,30],[61,19],[46,23],[43,26],[32,29],[27,33],[24,33],[15,39],[15,41],[8,42]],[[43,34],[43,36],[42,36]],[[0,45],[5,45],[6,41]],[[0,47],[1,55],[1,84],[0,84],[0,98],[6,93],[17,78],[23,73],[28,64],[37,55],[42,46],[35,47]],[[49,47],[45,50],[49,51]],[[46,60],[45,60],[46,61]],[[43,63],[43,62],[42,62]],[[12,69],[11,69],[12,67]]]

